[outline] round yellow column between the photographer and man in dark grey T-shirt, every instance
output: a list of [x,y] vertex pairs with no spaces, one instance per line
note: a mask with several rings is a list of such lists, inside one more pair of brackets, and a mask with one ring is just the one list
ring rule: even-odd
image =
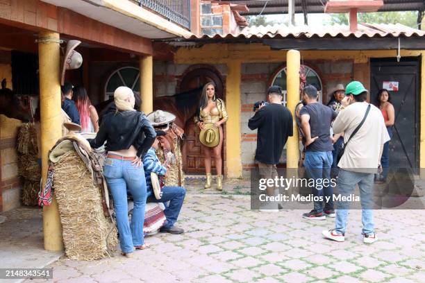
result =
[[288,94],[286,95],[287,107],[292,113],[292,129],[294,135],[289,137],[286,143],[286,167],[298,168],[299,161],[299,137],[298,128],[295,121],[295,106],[299,102],[299,65],[300,55],[297,50],[290,50],[286,55],[286,85]]

